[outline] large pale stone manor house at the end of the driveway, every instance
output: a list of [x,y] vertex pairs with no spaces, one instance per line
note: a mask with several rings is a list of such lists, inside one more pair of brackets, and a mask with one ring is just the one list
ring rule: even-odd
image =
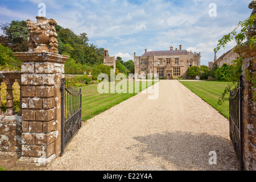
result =
[[136,56],[134,52],[135,74],[152,74],[167,79],[187,77],[187,69],[191,66],[200,67],[201,53],[192,53],[181,49],[169,51],[147,51],[142,56]]

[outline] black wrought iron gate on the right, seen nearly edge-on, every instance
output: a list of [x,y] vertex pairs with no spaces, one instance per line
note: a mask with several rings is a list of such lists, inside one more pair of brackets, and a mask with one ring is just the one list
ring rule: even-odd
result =
[[232,140],[240,168],[243,169],[243,84],[242,76],[234,90],[230,90],[229,100],[229,126],[230,139]]

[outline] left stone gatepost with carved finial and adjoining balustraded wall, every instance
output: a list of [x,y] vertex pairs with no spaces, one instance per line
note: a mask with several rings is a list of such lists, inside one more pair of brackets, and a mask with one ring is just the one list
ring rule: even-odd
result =
[[[0,72],[0,83],[7,86],[7,110],[4,115],[0,110],[0,158],[17,158],[16,166],[47,166],[61,152],[60,86],[69,56],[58,54],[57,22],[36,19],[27,20],[28,52],[14,53],[23,62],[21,72]],[[18,115],[13,109],[15,80],[20,85]]]

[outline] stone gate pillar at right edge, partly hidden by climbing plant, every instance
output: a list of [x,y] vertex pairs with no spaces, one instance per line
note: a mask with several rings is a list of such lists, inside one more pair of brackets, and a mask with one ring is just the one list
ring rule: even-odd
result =
[[[256,1],[249,4],[256,14]],[[248,31],[248,40],[256,35],[256,22]],[[243,75],[243,164],[247,171],[256,171],[256,46],[249,45],[237,50],[245,59],[242,61]]]

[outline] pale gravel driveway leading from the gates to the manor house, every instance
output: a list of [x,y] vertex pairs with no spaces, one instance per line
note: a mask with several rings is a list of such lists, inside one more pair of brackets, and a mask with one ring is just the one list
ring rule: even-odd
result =
[[139,93],[83,123],[46,170],[238,170],[228,119],[179,81],[158,84],[158,100]]

